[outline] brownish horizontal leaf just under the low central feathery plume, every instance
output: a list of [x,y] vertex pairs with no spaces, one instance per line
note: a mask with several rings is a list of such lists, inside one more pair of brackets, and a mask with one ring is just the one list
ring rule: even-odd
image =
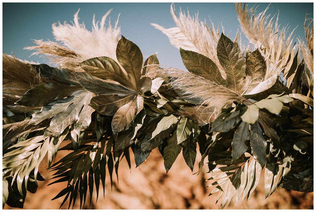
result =
[[214,109],[203,105],[181,106],[175,113],[190,118],[200,126],[212,123],[215,119]]

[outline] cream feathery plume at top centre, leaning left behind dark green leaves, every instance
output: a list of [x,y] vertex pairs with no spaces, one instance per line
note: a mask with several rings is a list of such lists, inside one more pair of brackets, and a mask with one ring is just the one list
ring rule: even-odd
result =
[[215,31],[213,23],[211,23],[210,30],[206,27],[205,23],[199,21],[198,14],[195,17],[181,11],[179,13],[179,18],[175,14],[175,9],[173,4],[170,6],[170,12],[173,17],[174,22],[177,27],[172,27],[165,29],[164,27],[151,23],[156,29],[160,30],[162,33],[168,36],[170,43],[179,49],[179,47],[195,51],[204,56],[209,57],[219,70],[221,71],[222,76],[226,79],[226,73],[224,72],[216,54],[216,46],[219,39],[218,31]]

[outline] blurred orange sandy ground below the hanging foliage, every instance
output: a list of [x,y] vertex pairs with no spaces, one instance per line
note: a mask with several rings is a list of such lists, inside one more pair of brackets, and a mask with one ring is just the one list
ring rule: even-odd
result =
[[[66,153],[64,153],[66,154]],[[58,155],[58,158],[62,154]],[[197,157],[201,157],[198,156]],[[57,159],[58,159],[57,158]],[[197,161],[200,158],[197,158]],[[198,170],[196,161],[193,173]],[[211,196],[212,188],[206,187],[210,183],[205,182],[211,174],[192,174],[185,164],[182,152],[174,162],[172,168],[166,174],[163,158],[157,149],[153,150],[140,167],[136,168],[131,158],[131,171],[127,162],[123,159],[119,165],[119,182],[113,174],[113,187],[111,191],[110,177],[106,175],[105,195],[100,185],[99,198],[96,201],[96,191],[89,206],[89,194],[84,209],[221,209],[221,199],[216,204],[217,193]],[[40,173],[45,179],[50,179],[52,172],[46,172],[47,163],[43,161]],[[107,170],[106,170],[107,171]],[[263,176],[263,175],[262,175]],[[63,197],[52,200],[65,183],[57,183],[47,186],[54,180],[39,182],[39,188],[35,194],[27,193],[24,209],[58,209]],[[100,183],[101,184],[101,183]],[[272,196],[264,198],[264,179],[261,178],[252,197],[246,202],[239,200],[235,205],[235,197],[227,209],[313,209],[313,192],[302,193],[278,188]],[[79,195],[74,209],[79,209]],[[5,205],[4,209],[15,209]],[[61,207],[68,209],[68,201]]]

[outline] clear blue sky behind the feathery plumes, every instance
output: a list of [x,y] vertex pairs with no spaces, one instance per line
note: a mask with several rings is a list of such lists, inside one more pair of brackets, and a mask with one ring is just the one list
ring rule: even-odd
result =
[[[54,41],[52,24],[60,21],[70,23],[73,15],[79,12],[79,22],[85,23],[86,28],[91,30],[92,19],[95,14],[96,21],[109,9],[112,24],[119,16],[119,26],[122,35],[137,44],[144,55],[144,59],[158,52],[160,64],[174,68],[185,69],[182,64],[179,50],[169,43],[169,39],[150,23],[159,24],[165,28],[176,26],[170,14],[171,3],[3,3],[3,52],[15,54],[19,59],[32,60],[45,63],[44,58],[29,56],[33,51],[23,50],[24,47],[33,46],[32,39],[47,39]],[[190,11],[193,16],[198,12],[200,20],[210,19],[214,25],[222,23],[225,34],[229,38],[235,38],[240,25],[234,3],[175,3],[176,13]],[[252,7],[254,3],[248,3]],[[269,3],[257,3],[258,12],[263,11]],[[289,26],[295,36],[304,37],[305,13],[313,18],[313,3],[271,3],[267,14],[276,14],[279,11],[278,23]],[[243,37],[245,38],[245,37]],[[244,40],[244,39],[243,39]]]

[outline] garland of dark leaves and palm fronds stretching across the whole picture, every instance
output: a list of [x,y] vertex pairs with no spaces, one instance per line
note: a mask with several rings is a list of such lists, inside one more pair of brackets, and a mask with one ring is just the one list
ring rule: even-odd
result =
[[[236,9],[248,38],[267,24],[266,10],[251,21],[253,9],[241,4]],[[185,21],[197,21],[184,14],[178,19],[171,10],[179,29]],[[305,25],[306,48],[313,58],[310,24]],[[180,55],[189,72],[162,68],[156,54],[143,62],[141,50],[123,36],[116,58],[68,62],[64,68],[3,54],[3,207],[22,208],[27,191],[36,192],[37,181],[44,180],[38,168],[47,156],[48,168],[55,172],[53,183],[68,182],[54,199],[65,196],[63,205],[69,198],[70,208],[79,195],[81,208],[88,189],[91,202],[94,184],[97,197],[100,181],[104,191],[106,167],[111,183],[123,157],[131,168],[130,149],[139,166],[158,148],[167,172],[182,151],[193,171],[198,146],[198,173],[207,158],[209,172],[215,173],[208,179],[214,186],[210,195],[222,197],[222,209],[234,196],[236,202],[248,200],[262,170],[265,197],[277,187],[312,192],[313,67],[300,59],[297,45],[291,48],[290,37],[282,43],[283,34],[279,46],[273,46],[257,33],[253,46],[242,52],[238,34],[231,41],[214,26],[198,27],[209,32],[216,54],[204,55],[194,43],[197,50],[190,50],[192,40],[183,30],[188,48],[180,48]],[[177,39],[170,33],[171,41]],[[36,42],[30,48],[49,43]],[[80,58],[53,45],[59,48],[57,56],[63,49],[68,57]],[[26,72],[27,78],[12,76],[13,69]],[[32,87],[15,83],[23,80]],[[12,106],[14,96],[19,100]],[[71,143],[59,148],[65,141]],[[59,150],[71,152],[52,163]]]

